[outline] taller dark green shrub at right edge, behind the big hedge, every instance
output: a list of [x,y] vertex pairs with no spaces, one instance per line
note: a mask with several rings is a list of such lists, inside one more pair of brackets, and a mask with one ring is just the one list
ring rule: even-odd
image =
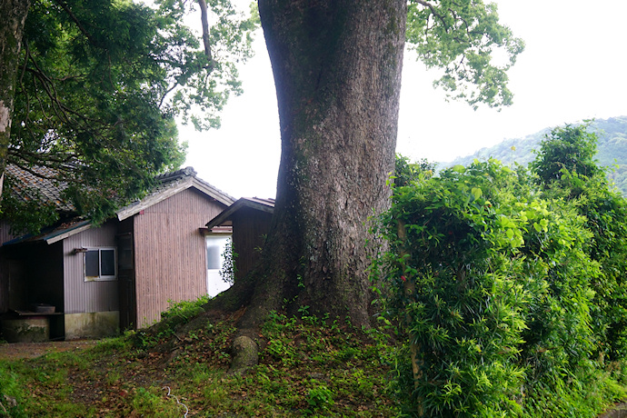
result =
[[553,130],[531,168],[542,193],[572,204],[592,233],[587,253],[602,268],[592,282],[592,326],[599,354],[615,361],[627,354],[627,203],[593,160],[597,136],[587,132],[588,126]]

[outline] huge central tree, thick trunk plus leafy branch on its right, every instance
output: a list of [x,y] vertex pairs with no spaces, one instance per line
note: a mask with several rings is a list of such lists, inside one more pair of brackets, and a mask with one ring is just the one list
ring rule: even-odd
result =
[[[300,306],[367,324],[375,245],[365,224],[389,205],[405,43],[444,69],[438,85],[454,97],[501,106],[523,42],[474,0],[259,0],[259,15],[282,156],[264,263],[224,299],[248,305],[244,330]],[[493,65],[497,49],[506,65]]]

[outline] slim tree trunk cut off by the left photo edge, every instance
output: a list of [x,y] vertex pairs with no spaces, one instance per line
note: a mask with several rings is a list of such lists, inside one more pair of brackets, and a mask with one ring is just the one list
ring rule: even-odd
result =
[[11,138],[18,59],[29,0],[0,0],[0,201]]

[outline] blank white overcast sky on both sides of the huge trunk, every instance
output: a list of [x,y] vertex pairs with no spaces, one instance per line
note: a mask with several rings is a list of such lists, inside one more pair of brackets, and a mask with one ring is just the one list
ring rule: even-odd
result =
[[[497,112],[446,103],[432,86],[437,74],[405,52],[397,152],[451,161],[544,127],[627,114],[627,2],[495,3],[501,22],[526,43],[510,72],[514,104]],[[276,94],[261,30],[255,38],[255,56],[240,68],[244,95],[227,104],[222,127],[198,133],[179,126],[181,140],[189,143],[185,165],[235,197],[276,193]]]

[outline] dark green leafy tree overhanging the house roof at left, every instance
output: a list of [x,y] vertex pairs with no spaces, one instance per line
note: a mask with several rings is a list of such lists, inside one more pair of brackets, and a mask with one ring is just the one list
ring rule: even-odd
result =
[[[227,0],[198,0],[202,43],[183,16],[196,2],[1,0],[0,174],[5,164],[66,184],[65,198],[99,221],[154,174],[184,160],[174,115],[198,127],[240,93],[235,64],[254,23]],[[212,25],[209,25],[209,22]],[[204,117],[194,115],[204,112]],[[7,187],[6,189],[10,189]],[[36,230],[53,208],[5,193],[13,224]],[[35,210],[36,209],[36,210]],[[35,210],[35,214],[31,211]],[[31,214],[28,219],[20,215]]]

